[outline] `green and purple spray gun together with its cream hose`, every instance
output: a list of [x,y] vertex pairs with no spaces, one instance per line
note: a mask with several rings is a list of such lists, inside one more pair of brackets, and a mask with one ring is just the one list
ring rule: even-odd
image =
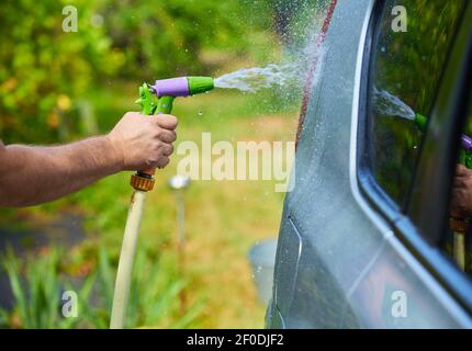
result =
[[[139,87],[139,99],[136,103],[146,115],[168,114],[172,111],[173,100],[178,97],[190,97],[210,91],[214,88],[211,77],[180,77],[157,80],[154,86],[144,83]],[[146,193],[155,184],[155,168],[138,171],[131,177],[133,195],[126,218],[116,282],[113,295],[111,329],[122,329],[126,317],[133,263],[139,233],[141,218],[144,212]]]

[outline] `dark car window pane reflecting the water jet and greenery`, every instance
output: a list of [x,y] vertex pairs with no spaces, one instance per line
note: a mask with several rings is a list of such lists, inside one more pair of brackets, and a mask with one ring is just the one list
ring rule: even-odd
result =
[[[406,10],[407,32],[392,27],[396,5]],[[370,167],[398,206],[413,181],[422,132],[463,5],[460,0],[386,1],[377,29],[369,72]]]

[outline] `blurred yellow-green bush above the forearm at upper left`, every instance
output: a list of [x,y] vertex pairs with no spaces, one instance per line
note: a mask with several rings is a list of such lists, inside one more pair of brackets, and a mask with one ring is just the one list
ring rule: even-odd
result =
[[0,133],[3,140],[57,139],[71,98],[120,66],[103,27],[90,19],[95,1],[72,1],[78,32],[63,31],[69,1],[5,1],[0,9]]

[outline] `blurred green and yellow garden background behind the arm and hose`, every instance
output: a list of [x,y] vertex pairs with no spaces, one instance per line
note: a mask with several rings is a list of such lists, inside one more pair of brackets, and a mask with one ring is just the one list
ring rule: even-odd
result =
[[[300,64],[304,75],[327,1],[18,0],[0,5],[0,138],[48,145],[106,133],[137,107],[143,81],[218,77]],[[64,32],[65,5],[78,31]],[[303,79],[302,79],[303,81]],[[217,91],[176,101],[179,140],[294,140],[303,84],[290,92]],[[178,156],[157,174],[143,218],[130,327],[261,328],[250,247],[276,238],[283,193],[272,181],[194,181],[186,191],[184,260],[177,250]],[[0,210],[0,326],[108,328],[130,174],[46,205]],[[180,253],[181,254],[181,253]],[[60,313],[78,294],[77,318]]]

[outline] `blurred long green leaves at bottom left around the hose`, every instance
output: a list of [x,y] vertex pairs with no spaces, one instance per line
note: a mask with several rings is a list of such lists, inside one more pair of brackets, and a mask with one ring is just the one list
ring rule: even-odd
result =
[[[81,278],[74,276],[77,275],[74,256],[71,259],[64,250],[53,248],[29,260],[20,259],[9,250],[2,258],[2,265],[14,301],[12,310],[0,308],[0,327],[109,328],[116,269],[103,246],[93,250],[93,257],[98,260],[79,258],[78,271],[85,269],[87,272],[87,276]],[[161,260],[151,248],[139,246],[135,270],[141,274],[133,275],[126,327],[199,326],[203,305],[196,302],[186,310],[181,309],[179,296],[186,281],[175,267],[175,262]],[[79,288],[78,284],[71,283],[72,278],[79,282]],[[70,297],[63,296],[65,292],[76,293],[77,316],[63,315],[65,304],[71,302]]]

